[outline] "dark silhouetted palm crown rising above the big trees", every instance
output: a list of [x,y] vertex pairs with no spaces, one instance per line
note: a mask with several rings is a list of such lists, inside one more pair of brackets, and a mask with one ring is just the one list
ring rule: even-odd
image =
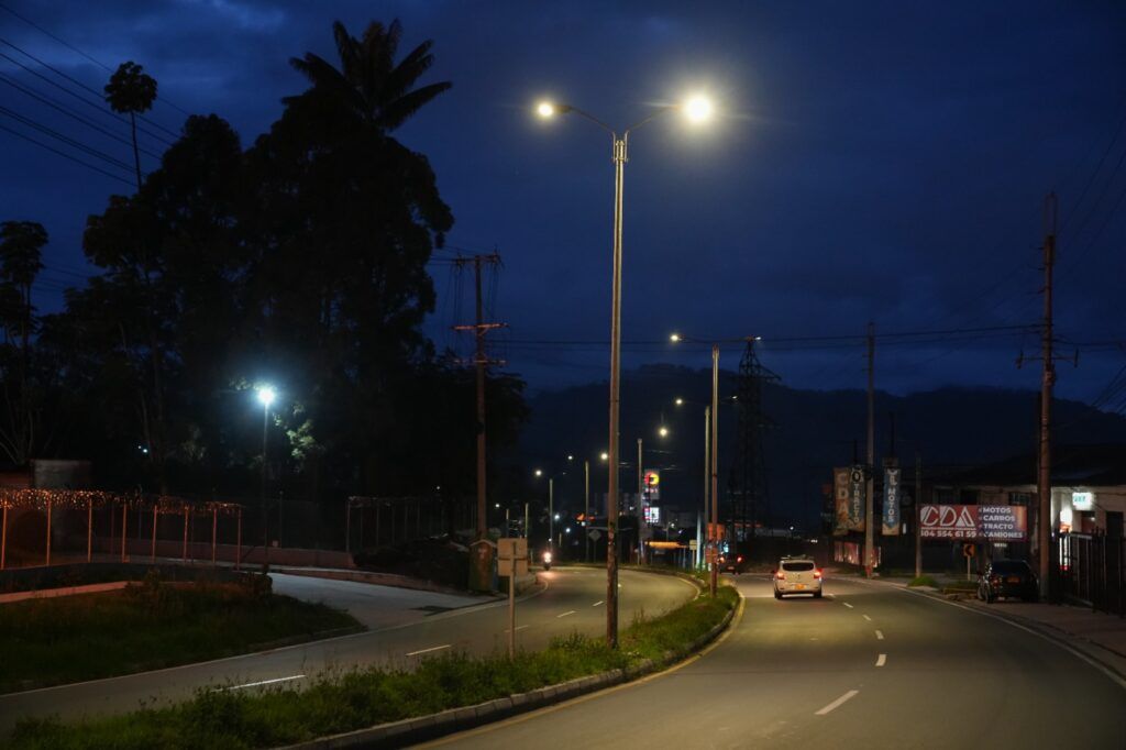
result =
[[[358,118],[364,125],[390,133],[402,125],[428,101],[453,86],[448,81],[412,89],[414,82],[434,64],[429,39],[414,47],[399,63],[399,41],[402,25],[397,19],[384,27],[372,21],[364,29],[363,38],[348,34],[340,21],[332,24],[340,69],[323,57],[306,52],[304,57],[292,57],[289,64],[303,73],[313,88],[305,95],[328,96]],[[301,97],[286,97],[293,104]]]

